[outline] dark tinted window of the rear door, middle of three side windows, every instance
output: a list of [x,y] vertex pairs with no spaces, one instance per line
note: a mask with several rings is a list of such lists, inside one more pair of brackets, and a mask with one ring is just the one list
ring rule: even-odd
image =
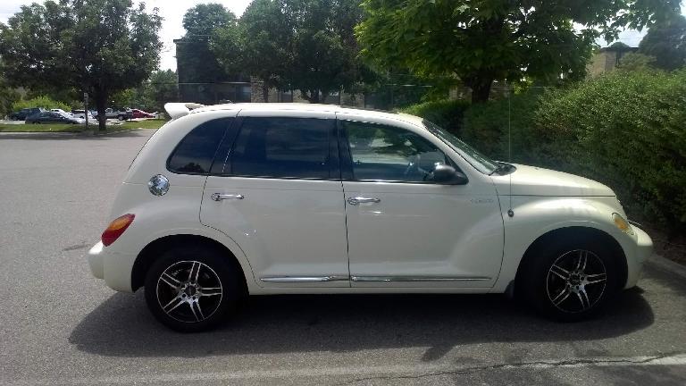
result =
[[328,179],[334,128],[333,120],[246,118],[234,143],[230,174]]

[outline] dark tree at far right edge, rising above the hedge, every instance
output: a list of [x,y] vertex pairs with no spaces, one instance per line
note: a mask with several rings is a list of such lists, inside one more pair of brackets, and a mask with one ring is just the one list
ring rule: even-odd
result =
[[686,18],[674,14],[648,29],[639,53],[655,57],[657,68],[672,71],[686,65]]

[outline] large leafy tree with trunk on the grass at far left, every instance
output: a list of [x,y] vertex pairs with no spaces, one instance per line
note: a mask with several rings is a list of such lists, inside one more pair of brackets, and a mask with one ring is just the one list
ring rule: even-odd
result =
[[0,24],[0,56],[13,84],[76,88],[96,101],[105,130],[109,96],[155,70],[162,18],[130,0],[48,0]]

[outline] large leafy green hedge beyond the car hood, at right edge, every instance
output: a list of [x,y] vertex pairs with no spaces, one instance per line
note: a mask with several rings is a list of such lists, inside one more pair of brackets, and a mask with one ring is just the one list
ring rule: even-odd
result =
[[686,71],[613,71],[541,99],[535,136],[570,172],[615,189],[627,210],[686,226]]

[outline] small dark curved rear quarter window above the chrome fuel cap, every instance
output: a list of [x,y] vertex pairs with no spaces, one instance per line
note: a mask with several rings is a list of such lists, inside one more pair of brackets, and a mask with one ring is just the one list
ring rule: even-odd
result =
[[171,172],[205,174],[210,171],[214,154],[231,118],[205,122],[181,139],[169,157],[167,168]]

